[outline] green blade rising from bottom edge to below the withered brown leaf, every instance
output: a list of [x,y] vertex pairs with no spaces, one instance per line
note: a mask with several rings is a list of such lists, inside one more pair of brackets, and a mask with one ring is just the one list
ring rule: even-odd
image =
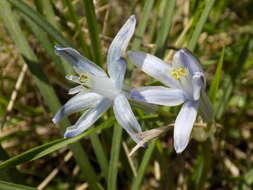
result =
[[141,186],[141,182],[143,180],[143,177],[145,175],[146,169],[148,167],[148,163],[151,159],[152,153],[155,149],[156,140],[153,140],[149,143],[148,149],[146,150],[143,159],[141,161],[140,168],[138,169],[137,176],[133,181],[132,190],[139,190]]

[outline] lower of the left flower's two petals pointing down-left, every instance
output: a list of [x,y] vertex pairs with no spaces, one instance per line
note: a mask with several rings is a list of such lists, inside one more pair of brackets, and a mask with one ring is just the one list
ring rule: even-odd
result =
[[64,138],[74,137],[88,129],[93,125],[101,115],[106,112],[112,104],[112,101],[108,98],[103,98],[95,108],[90,109],[84,113],[76,122],[74,126],[68,127]]

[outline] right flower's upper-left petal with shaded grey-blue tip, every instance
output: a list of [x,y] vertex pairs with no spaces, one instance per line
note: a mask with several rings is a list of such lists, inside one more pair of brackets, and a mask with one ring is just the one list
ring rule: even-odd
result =
[[179,88],[179,83],[171,76],[171,66],[161,59],[140,51],[128,51],[129,59],[142,71],[161,81],[163,84]]

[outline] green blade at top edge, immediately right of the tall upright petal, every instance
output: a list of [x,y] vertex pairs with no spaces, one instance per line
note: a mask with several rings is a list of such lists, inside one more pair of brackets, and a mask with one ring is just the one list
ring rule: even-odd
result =
[[137,29],[135,32],[135,38],[132,44],[133,50],[138,50],[140,48],[140,44],[142,41],[142,36],[146,30],[148,24],[148,18],[150,16],[151,9],[153,7],[154,0],[147,0],[144,3],[144,7],[142,10],[141,18],[137,24]]

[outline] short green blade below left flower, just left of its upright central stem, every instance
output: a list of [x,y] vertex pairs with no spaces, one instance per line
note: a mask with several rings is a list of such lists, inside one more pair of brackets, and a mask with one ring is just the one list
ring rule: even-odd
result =
[[93,147],[96,157],[98,159],[99,166],[102,169],[102,173],[103,173],[105,179],[107,179],[109,163],[108,163],[107,157],[105,155],[103,146],[102,146],[102,144],[99,140],[99,137],[96,133],[92,133],[90,135],[90,139],[91,139],[92,147]]

